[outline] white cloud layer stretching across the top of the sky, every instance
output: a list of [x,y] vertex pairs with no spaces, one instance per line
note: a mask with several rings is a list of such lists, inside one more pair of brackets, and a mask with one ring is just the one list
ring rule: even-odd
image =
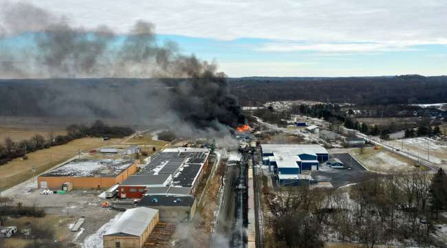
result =
[[[0,2],[5,0],[0,0]],[[19,1],[19,0],[12,0]],[[447,39],[445,0],[20,0],[64,14],[85,27],[107,24],[126,32],[138,19],[157,32],[309,43],[436,43]],[[381,49],[373,45],[321,49]]]

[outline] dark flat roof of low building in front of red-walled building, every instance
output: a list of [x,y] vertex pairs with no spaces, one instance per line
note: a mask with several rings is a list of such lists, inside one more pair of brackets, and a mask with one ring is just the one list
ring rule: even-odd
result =
[[146,194],[137,203],[138,207],[191,207],[195,202],[194,196],[174,196],[174,195],[152,195]]

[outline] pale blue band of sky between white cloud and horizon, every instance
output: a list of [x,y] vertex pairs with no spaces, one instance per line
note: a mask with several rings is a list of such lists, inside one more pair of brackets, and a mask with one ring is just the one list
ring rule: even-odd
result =
[[447,75],[447,45],[413,45],[405,49],[360,52],[265,51],[261,38],[215,40],[159,35],[160,42],[176,41],[182,52],[217,60],[229,76],[390,76]]

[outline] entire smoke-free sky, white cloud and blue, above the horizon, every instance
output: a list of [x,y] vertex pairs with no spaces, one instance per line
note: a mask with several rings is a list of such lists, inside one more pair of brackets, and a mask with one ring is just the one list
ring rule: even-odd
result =
[[447,74],[446,0],[21,2],[86,28],[150,21],[228,76]]

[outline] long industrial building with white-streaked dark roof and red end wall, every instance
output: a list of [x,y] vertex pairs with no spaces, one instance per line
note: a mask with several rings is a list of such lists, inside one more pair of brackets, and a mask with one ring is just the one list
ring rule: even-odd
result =
[[120,198],[142,198],[144,194],[193,195],[208,166],[206,148],[167,148],[151,157],[149,164],[121,183]]

